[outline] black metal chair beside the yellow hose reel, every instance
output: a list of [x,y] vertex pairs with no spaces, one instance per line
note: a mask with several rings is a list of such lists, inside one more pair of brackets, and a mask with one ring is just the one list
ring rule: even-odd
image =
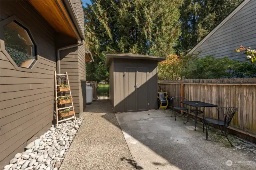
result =
[[[185,114],[184,116],[186,116],[186,113],[188,114],[188,108],[184,106],[182,106],[182,103],[180,103],[180,101],[188,101],[186,98],[183,98],[183,97],[172,97],[171,100],[170,100],[170,109],[172,110],[172,113],[173,113],[173,110],[176,109],[176,110],[185,110]],[[184,105],[184,104],[183,104]],[[176,120],[176,111],[174,110],[174,117],[175,117],[175,120]]]

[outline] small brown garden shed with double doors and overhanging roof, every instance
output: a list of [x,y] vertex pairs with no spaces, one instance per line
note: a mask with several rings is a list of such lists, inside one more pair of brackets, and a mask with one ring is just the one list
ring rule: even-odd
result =
[[162,57],[138,54],[106,55],[110,67],[110,103],[114,112],[157,108],[157,65]]

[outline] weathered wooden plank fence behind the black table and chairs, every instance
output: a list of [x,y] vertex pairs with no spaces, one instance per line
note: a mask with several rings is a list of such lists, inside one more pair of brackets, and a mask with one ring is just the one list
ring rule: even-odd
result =
[[[256,137],[256,78],[158,80],[158,85],[171,97],[238,107],[230,126]],[[205,111],[205,116],[218,118],[216,108]]]

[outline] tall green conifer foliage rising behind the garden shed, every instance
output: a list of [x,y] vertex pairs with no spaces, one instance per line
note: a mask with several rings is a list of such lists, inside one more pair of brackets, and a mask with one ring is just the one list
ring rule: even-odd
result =
[[[107,78],[104,55],[138,53],[167,57],[180,36],[180,0],[91,0],[86,4],[86,47],[96,63],[87,79]],[[97,76],[102,75],[103,77]]]

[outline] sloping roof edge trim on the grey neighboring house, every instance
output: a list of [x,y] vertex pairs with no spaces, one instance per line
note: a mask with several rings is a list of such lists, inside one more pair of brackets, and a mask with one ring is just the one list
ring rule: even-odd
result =
[[215,33],[224,23],[226,23],[232,16],[234,16],[241,8],[243,8],[250,0],[244,0],[242,1],[219,25],[217,25],[204,39],[202,39],[192,50],[188,52],[188,54],[193,53],[204,41],[206,41],[208,38],[212,36],[213,33]]

